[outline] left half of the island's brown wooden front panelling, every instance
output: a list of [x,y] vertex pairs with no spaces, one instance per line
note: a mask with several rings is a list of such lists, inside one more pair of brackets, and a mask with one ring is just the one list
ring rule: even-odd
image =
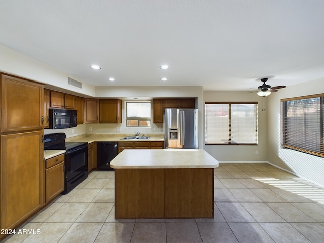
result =
[[164,218],[164,170],[115,169],[115,218]]

